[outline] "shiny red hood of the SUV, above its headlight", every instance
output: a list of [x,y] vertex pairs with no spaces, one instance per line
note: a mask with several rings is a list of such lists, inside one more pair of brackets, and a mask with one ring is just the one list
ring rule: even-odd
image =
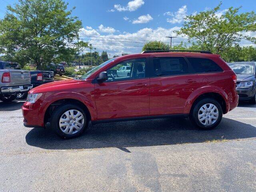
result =
[[44,92],[52,92],[52,91],[59,91],[59,90],[70,90],[76,88],[81,83],[86,83],[86,80],[61,80],[61,81],[54,81],[46,84],[42,84],[38,87],[31,89],[28,93],[44,93]]

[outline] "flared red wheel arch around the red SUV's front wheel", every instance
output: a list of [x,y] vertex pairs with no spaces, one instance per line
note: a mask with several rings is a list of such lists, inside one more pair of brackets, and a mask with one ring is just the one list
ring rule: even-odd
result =
[[[42,102],[38,113],[42,116],[45,115],[47,108],[54,102],[62,99],[74,99],[82,102],[89,110],[90,116],[92,120],[97,119],[97,113],[96,113],[96,106],[94,102],[94,96],[91,95],[90,93],[88,94],[81,94],[79,92],[69,92],[69,91],[64,91],[64,92],[56,92],[51,95],[44,96],[44,101]],[[42,125],[43,126],[43,125]]]

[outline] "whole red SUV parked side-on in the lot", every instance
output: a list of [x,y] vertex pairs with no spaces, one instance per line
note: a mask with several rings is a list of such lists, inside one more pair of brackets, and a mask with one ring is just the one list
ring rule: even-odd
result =
[[22,112],[24,126],[50,126],[71,138],[89,121],[184,116],[210,129],[237,105],[236,74],[219,55],[145,51],[112,58],[79,79],[33,88]]

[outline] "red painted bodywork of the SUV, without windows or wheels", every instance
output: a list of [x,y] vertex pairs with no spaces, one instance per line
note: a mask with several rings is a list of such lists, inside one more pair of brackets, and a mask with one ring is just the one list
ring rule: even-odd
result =
[[[165,114],[189,114],[198,96],[215,92],[226,102],[226,111],[238,104],[234,72],[215,54],[164,53],[164,56],[208,58],[216,62],[224,72],[185,74],[178,76],[147,77],[135,80],[98,83],[94,79],[102,71],[121,61],[133,58],[163,56],[163,53],[134,54],[121,56],[94,72],[87,80],[64,80],[43,84],[29,91],[43,93],[34,104],[22,106],[25,123],[44,126],[44,115],[53,102],[61,99],[76,99],[90,112],[92,121],[112,118],[132,118]],[[147,62],[147,65],[150,65]],[[94,83],[95,82],[95,83]]]

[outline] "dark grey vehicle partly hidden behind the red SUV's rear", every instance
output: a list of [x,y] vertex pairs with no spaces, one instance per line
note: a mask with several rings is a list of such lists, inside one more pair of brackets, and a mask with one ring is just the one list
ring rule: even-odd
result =
[[233,62],[228,65],[237,75],[239,100],[256,104],[256,62]]

